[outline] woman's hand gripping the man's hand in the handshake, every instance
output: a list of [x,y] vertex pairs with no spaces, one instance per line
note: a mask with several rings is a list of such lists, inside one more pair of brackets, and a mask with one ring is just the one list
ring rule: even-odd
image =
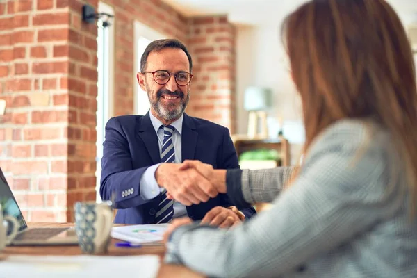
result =
[[226,170],[214,170],[210,164],[201,161],[183,161],[179,170],[195,169],[210,181],[218,193],[226,193]]

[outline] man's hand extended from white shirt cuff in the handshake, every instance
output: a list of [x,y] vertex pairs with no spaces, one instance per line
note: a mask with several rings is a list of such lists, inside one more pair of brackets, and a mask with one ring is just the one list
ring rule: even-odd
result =
[[180,169],[180,164],[162,163],[155,172],[156,182],[167,190],[170,199],[186,206],[207,202],[218,191],[202,174],[193,168]]

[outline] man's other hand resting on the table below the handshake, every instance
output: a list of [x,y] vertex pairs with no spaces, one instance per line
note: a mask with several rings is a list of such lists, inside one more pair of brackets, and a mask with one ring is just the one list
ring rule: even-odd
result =
[[202,219],[202,224],[210,224],[220,228],[228,228],[240,223],[240,219],[236,213],[222,206],[211,208]]

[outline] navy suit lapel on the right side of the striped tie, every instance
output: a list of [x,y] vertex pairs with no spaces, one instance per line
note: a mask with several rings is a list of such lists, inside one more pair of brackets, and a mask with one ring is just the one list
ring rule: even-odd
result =
[[193,119],[184,113],[182,135],[181,135],[181,149],[182,161],[186,159],[194,159],[195,147],[197,146],[198,132],[195,128]]

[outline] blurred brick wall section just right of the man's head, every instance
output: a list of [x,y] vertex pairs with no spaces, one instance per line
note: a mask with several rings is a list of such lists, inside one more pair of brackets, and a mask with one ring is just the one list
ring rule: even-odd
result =
[[235,129],[235,28],[226,16],[188,19],[195,78],[188,113]]

